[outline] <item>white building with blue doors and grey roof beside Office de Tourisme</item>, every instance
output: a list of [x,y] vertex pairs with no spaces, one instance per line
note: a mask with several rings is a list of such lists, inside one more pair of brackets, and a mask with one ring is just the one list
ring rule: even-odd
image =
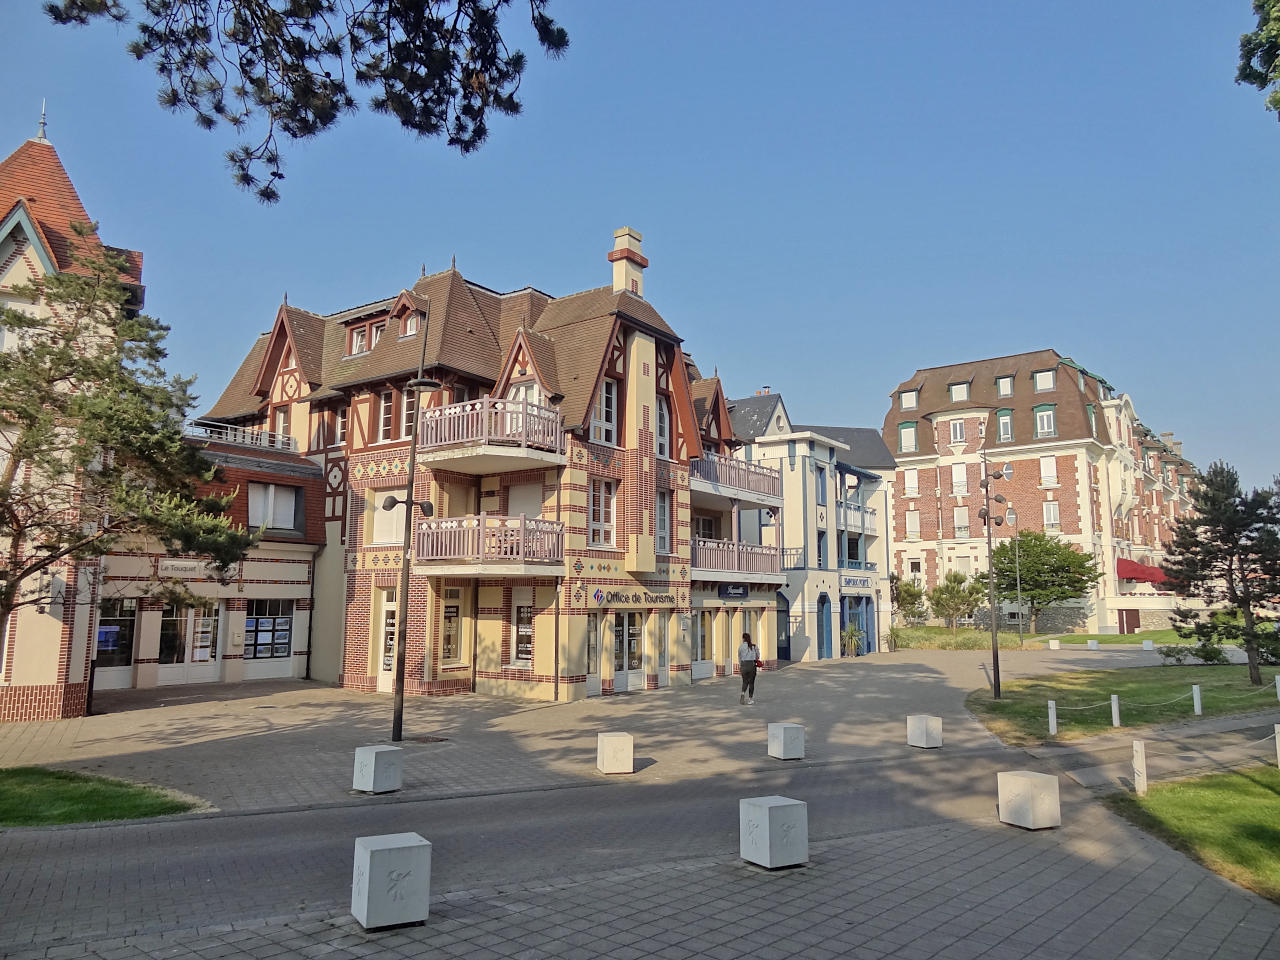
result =
[[[739,457],[776,470],[782,508],[753,511],[745,532],[782,548],[778,657],[872,653],[890,628],[888,538],[893,457],[872,428],[792,424],[768,388],[730,403]],[[849,627],[855,627],[850,635]]]

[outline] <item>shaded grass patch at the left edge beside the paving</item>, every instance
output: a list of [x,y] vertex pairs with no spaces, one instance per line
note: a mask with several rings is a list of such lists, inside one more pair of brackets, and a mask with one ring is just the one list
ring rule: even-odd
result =
[[0,771],[0,827],[132,820],[186,813],[189,800],[123,780],[90,777],[44,767]]

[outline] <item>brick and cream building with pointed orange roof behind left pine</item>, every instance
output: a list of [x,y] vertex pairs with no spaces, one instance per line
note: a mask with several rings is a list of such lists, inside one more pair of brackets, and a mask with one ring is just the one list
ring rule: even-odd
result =
[[[82,270],[73,255],[101,239],[72,229],[91,218],[42,131],[0,163],[0,306],[49,317],[14,288]],[[125,261],[127,308],[140,310],[142,253],[113,250]],[[13,346],[0,328],[0,348]],[[234,492],[241,524],[271,527],[232,576],[147,541],[54,564],[37,585],[47,603],[20,607],[0,631],[0,721],[83,716],[92,689],[306,673],[320,468],[264,439],[221,426],[189,436],[218,466],[209,493]],[[165,585],[200,603],[166,600]]]

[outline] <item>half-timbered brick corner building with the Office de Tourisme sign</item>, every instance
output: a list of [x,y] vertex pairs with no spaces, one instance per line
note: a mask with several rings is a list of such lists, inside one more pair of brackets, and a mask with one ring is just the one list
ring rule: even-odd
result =
[[[732,669],[737,627],[776,657],[773,588],[740,584],[753,577],[731,522],[694,529],[691,474],[714,474],[732,444],[718,381],[644,298],[641,236],[617,230],[608,260],[612,284],[567,297],[498,293],[451,268],[338,314],[285,303],[250,349],[209,420],[287,435],[323,467],[312,676],[392,689],[410,468],[434,509],[412,520],[406,692],[687,684]],[[407,384],[424,356],[442,385],[419,398]],[[724,474],[707,495],[731,516],[753,484]],[[755,562],[781,579],[776,548]],[[695,649],[695,584],[724,576],[745,595],[724,639],[699,634]]]

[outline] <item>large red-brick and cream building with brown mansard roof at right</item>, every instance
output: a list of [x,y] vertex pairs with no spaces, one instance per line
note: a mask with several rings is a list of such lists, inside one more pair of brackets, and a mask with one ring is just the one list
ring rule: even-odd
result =
[[[1160,562],[1189,508],[1194,467],[1172,434],[1144,426],[1133,399],[1056,351],[916,370],[891,394],[893,571],[925,588],[986,570],[982,457],[1012,476],[993,493],[1016,530],[1060,536],[1103,571],[1092,595],[1047,612],[1041,628],[1134,632],[1169,625]],[[1005,614],[1016,617],[1011,605]]]

